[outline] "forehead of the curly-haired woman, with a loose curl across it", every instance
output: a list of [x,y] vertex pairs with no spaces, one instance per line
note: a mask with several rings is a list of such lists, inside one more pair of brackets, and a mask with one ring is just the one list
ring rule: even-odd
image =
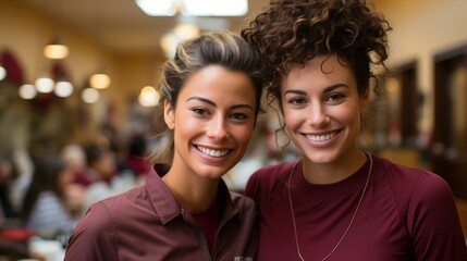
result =
[[355,86],[353,71],[337,55],[318,55],[305,65],[294,65],[281,80],[281,89],[328,87],[336,83]]

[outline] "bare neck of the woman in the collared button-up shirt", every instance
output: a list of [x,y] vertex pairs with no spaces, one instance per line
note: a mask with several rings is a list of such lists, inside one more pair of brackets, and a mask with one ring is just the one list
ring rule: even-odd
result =
[[209,209],[218,196],[219,179],[209,179],[173,170],[162,177],[176,200],[189,213],[201,213]]

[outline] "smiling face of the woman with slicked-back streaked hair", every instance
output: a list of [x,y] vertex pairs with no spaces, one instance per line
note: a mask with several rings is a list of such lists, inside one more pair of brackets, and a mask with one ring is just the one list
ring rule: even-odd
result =
[[164,101],[164,120],[174,130],[171,171],[220,178],[248,147],[255,108],[255,88],[244,73],[210,65],[193,74],[175,108]]

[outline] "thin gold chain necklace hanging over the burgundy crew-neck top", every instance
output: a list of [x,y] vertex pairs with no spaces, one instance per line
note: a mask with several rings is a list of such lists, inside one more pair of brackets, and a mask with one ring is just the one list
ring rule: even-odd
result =
[[[367,191],[368,184],[370,183],[370,176],[371,176],[371,170],[373,169],[373,159],[371,158],[371,154],[368,154],[368,158],[370,159],[370,170],[367,175],[367,182],[365,183],[364,191],[361,192],[360,199],[358,200],[357,208],[355,209],[354,215],[351,219],[351,222],[348,223],[347,228],[345,229],[344,234],[342,235],[341,239],[339,239],[337,244],[334,246],[334,248],[331,250],[331,252],[328,253],[321,261],[324,261],[331,257],[335,250],[339,248],[341,243],[344,240],[345,236],[347,236],[348,231],[351,229],[352,224],[354,223],[355,216],[357,215],[358,210],[360,209],[361,201],[364,200],[365,192]],[[298,163],[298,162],[297,162]],[[291,212],[292,212],[292,222],[294,224],[294,235],[295,235],[295,246],[297,247],[297,253],[302,261],[305,261],[304,257],[302,256],[300,247],[298,244],[298,234],[297,234],[297,225],[295,223],[295,213],[294,213],[294,206],[292,204],[292,192],[291,192],[291,186],[292,186],[292,175],[294,173],[295,165],[292,167],[291,174],[288,175],[288,203],[291,206]]]

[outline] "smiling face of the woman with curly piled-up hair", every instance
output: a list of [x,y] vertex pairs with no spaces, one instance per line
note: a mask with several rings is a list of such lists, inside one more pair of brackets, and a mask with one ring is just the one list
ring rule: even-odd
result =
[[345,164],[360,156],[356,140],[368,94],[359,96],[352,71],[336,55],[295,66],[281,83],[285,125],[310,163]]

